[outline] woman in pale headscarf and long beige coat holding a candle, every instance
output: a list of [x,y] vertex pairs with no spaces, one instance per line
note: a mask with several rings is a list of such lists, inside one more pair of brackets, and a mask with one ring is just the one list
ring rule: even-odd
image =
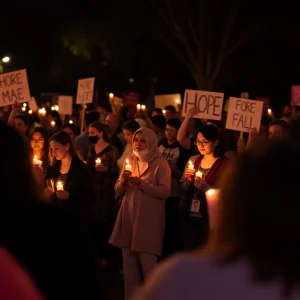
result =
[[165,200],[170,196],[171,171],[158,150],[153,130],[142,127],[133,135],[133,156],[115,185],[122,205],[110,243],[122,248],[125,299],[145,278],[161,255]]

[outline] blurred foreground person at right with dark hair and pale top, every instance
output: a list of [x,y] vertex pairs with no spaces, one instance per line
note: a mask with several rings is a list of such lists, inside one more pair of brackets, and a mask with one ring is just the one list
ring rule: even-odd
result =
[[207,246],[161,265],[134,300],[300,298],[299,141],[253,146],[211,199],[217,214]]

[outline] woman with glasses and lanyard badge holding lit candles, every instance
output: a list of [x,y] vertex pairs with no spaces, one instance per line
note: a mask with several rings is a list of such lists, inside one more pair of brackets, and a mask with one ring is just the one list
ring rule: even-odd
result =
[[214,125],[205,125],[197,131],[195,145],[200,155],[190,158],[180,181],[180,188],[185,195],[181,207],[186,250],[199,247],[208,236],[209,216],[205,192],[216,187],[227,163],[219,139],[220,132]]

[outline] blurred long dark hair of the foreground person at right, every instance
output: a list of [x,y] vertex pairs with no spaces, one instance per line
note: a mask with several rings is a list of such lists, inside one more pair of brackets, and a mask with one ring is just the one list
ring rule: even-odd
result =
[[283,296],[300,286],[300,145],[253,145],[221,183],[220,213],[208,250],[221,262],[245,258],[254,280],[278,281]]

